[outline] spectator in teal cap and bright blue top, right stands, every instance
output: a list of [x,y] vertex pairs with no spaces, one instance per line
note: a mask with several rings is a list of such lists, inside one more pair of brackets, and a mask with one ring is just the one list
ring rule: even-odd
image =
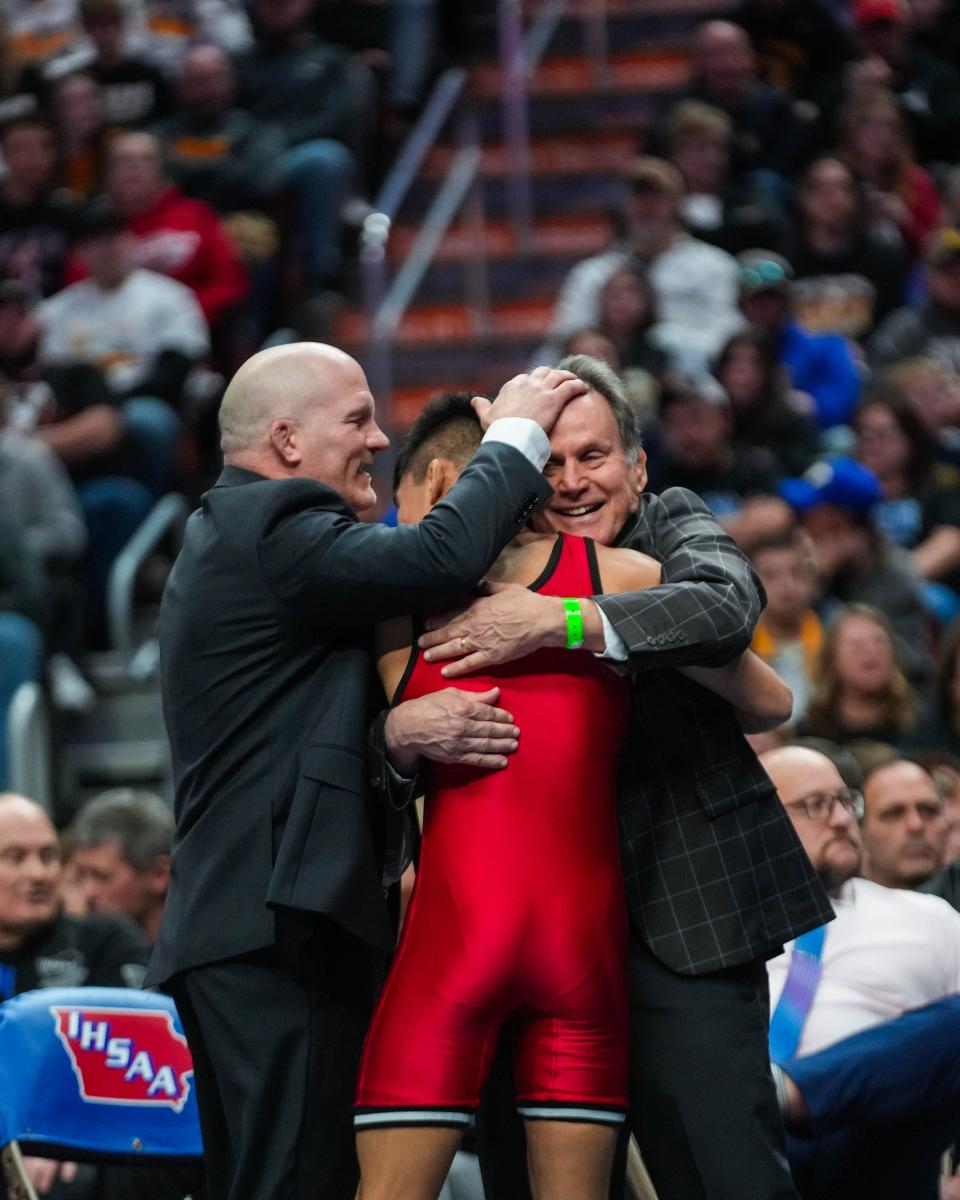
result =
[[793,269],[769,250],[737,259],[740,312],[787,373],[794,407],[821,428],[845,425],[860,395],[860,377],[842,337],[811,334],[793,318]]

